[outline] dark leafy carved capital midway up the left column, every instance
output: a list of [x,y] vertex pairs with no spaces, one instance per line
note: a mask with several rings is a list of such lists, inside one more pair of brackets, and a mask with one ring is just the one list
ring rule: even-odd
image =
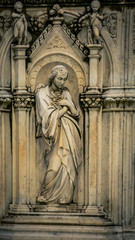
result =
[[30,109],[32,108],[34,103],[34,97],[33,96],[29,96],[29,97],[23,97],[23,96],[17,96],[14,97],[14,108],[17,109]]

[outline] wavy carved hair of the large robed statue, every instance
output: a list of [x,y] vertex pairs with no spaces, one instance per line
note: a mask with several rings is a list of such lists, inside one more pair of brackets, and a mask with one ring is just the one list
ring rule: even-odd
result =
[[68,70],[66,69],[66,67],[64,67],[63,65],[56,65],[55,67],[52,68],[51,74],[48,76],[49,85],[52,84],[53,79],[57,76],[58,72],[68,77]]

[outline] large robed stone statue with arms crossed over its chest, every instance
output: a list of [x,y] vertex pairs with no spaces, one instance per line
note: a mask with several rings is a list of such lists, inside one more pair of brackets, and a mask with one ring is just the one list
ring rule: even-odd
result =
[[41,85],[36,91],[37,121],[42,125],[47,166],[37,202],[69,204],[73,201],[82,162],[81,134],[76,121],[79,110],[64,87],[67,78],[67,69],[57,65],[49,75],[49,85]]

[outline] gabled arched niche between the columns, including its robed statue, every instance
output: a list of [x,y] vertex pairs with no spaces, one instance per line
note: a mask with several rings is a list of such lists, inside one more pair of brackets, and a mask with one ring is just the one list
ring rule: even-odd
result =
[[84,204],[84,120],[79,94],[88,81],[87,63],[82,61],[86,48],[67,34],[59,11],[55,5],[52,24],[31,46],[28,65],[27,85],[36,95],[37,181],[36,186],[31,184],[30,195],[36,210],[41,204]]

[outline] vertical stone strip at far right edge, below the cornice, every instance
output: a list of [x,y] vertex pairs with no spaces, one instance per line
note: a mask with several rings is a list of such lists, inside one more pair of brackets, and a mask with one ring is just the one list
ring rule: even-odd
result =
[[131,224],[134,214],[134,113],[125,113],[123,155],[123,216],[126,225]]

